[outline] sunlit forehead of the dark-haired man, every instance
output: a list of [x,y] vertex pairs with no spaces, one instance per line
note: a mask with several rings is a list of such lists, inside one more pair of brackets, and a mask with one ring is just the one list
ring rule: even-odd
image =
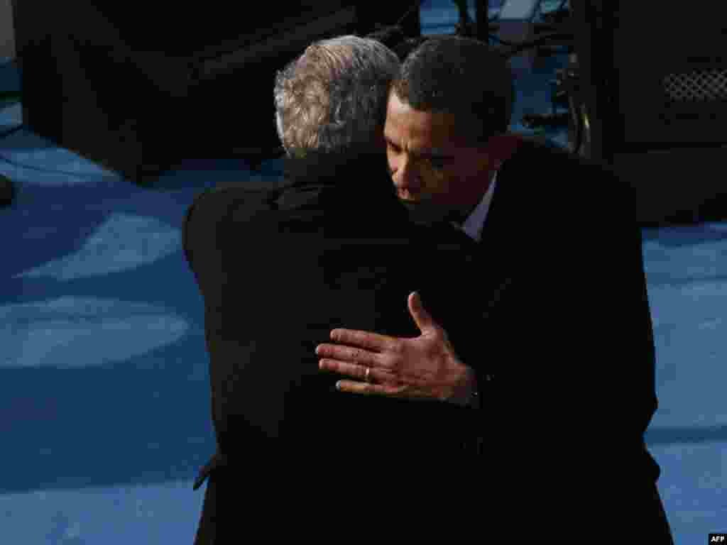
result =
[[397,143],[403,140],[411,148],[453,150],[457,140],[454,116],[414,110],[395,92],[389,94],[384,133],[388,139]]

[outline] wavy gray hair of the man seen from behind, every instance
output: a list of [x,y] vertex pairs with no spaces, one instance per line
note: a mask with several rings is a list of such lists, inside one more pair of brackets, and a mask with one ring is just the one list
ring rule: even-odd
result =
[[287,153],[371,145],[383,130],[399,65],[373,39],[348,35],[311,44],[275,79],[276,127]]

